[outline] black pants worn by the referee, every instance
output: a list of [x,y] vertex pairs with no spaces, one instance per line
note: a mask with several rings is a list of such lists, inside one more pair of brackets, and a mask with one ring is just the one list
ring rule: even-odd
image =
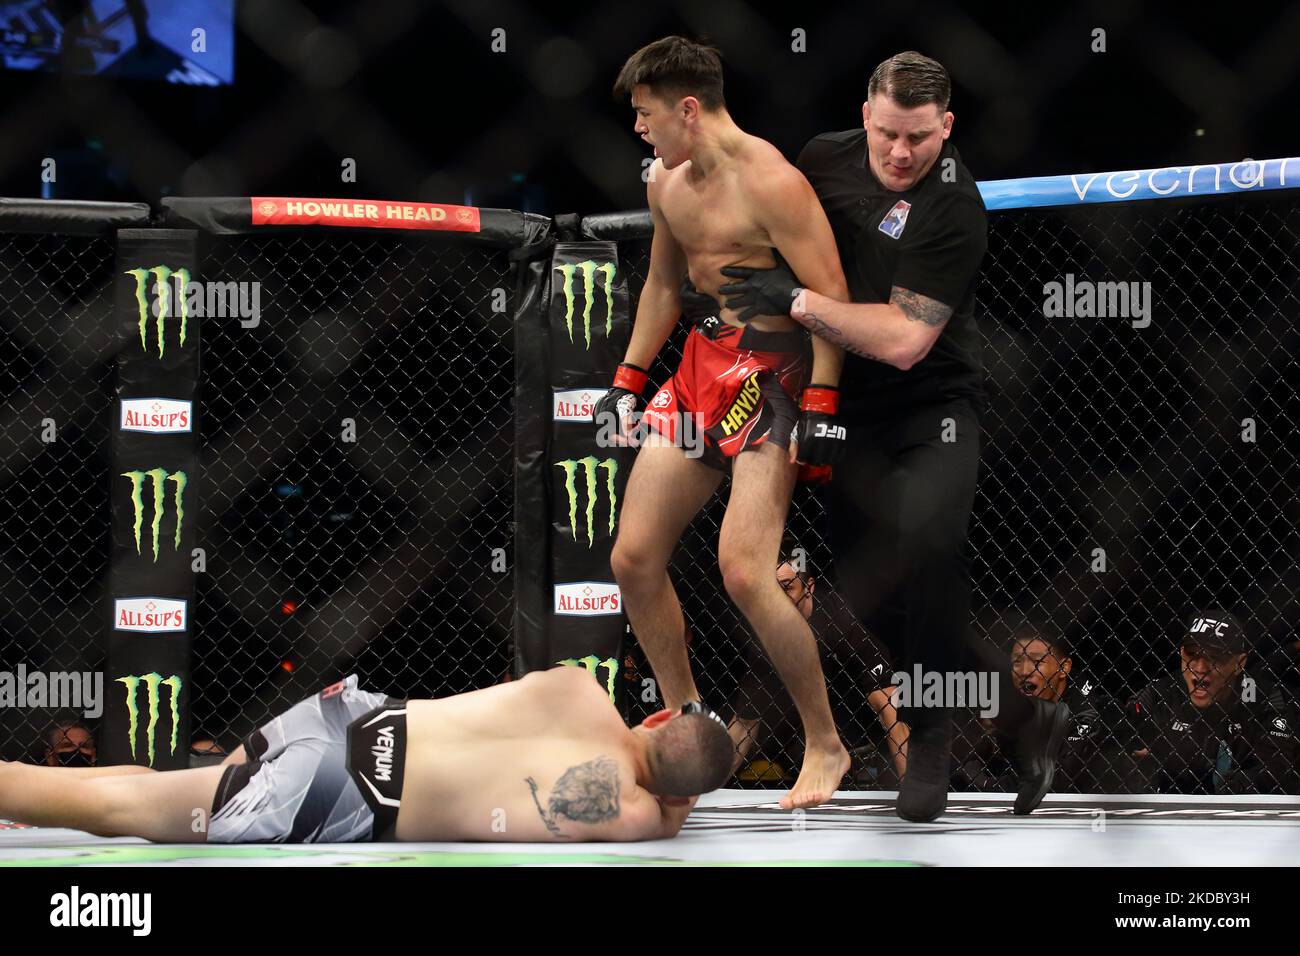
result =
[[[841,594],[906,672],[919,663],[926,672],[997,674],[997,723],[1014,732],[1028,701],[1011,687],[1009,656],[971,630],[975,405],[956,398],[889,418],[841,412],[841,420],[849,449],[823,498]],[[907,708],[900,718],[919,727],[945,713]]]

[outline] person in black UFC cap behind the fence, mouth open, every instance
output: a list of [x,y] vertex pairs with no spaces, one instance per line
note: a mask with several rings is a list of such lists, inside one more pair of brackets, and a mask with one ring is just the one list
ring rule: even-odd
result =
[[1135,790],[1297,793],[1294,705],[1247,669],[1240,622],[1213,607],[1188,623],[1179,672],[1128,701]]

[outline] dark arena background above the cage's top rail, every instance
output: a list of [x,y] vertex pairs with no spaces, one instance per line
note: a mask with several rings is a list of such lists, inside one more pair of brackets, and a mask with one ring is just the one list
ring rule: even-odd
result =
[[[953,77],[982,179],[1295,152],[1300,5],[1210,16],[1123,3],[881,4],[242,0],[233,87],[0,74],[0,195],[324,195],[601,212],[645,203],[632,112],[610,87],[666,34],[723,52],[740,125],[786,156],[861,122],[901,49]],[[490,51],[506,31],[506,52]],[[1092,31],[1106,31],[1093,53]],[[806,30],[807,52],[790,51]],[[202,62],[202,55],[194,55]],[[343,157],[358,181],[339,181]]]

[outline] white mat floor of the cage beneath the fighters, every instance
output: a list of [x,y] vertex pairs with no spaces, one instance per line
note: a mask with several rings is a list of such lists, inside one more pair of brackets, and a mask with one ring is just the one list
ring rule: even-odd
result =
[[0,823],[0,866],[1294,866],[1297,797],[954,793],[937,823],[905,823],[892,792],[841,791],[802,816],[772,792],[703,797],[673,840],[607,844],[195,847]]

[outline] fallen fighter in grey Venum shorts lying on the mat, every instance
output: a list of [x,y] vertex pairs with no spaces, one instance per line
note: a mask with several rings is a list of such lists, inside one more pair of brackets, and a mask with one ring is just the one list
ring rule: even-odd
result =
[[351,676],[221,766],[0,762],[0,817],[159,843],[653,840],[731,774],[725,724],[682,710],[628,728],[580,667],[413,701]]

